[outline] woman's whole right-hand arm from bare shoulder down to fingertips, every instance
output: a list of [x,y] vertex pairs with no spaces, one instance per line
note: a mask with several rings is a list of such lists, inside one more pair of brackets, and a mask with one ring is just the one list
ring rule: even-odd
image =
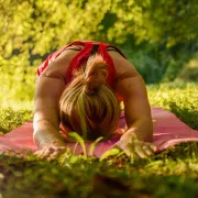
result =
[[153,139],[153,124],[145,84],[129,61],[114,55],[113,62],[117,70],[116,91],[123,98],[128,127],[114,146],[131,157],[150,157],[156,147],[148,143]]

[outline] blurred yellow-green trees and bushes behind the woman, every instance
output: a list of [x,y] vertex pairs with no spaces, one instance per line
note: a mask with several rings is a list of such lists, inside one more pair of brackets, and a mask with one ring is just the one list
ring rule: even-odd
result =
[[1,92],[32,98],[38,64],[76,40],[117,45],[146,84],[197,81],[197,0],[0,0]]

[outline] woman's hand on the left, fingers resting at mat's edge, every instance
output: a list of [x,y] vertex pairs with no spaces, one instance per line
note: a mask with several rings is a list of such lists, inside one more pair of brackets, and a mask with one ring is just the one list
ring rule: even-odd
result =
[[44,144],[41,150],[36,151],[34,154],[40,158],[52,161],[61,156],[65,152],[68,152],[68,147],[65,143],[52,142]]

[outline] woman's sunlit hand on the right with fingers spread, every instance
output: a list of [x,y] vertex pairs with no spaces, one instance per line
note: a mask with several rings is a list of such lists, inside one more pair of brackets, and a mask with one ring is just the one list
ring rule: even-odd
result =
[[133,132],[125,132],[116,145],[123,150],[128,156],[136,158],[147,158],[156,152],[156,146],[140,141]]

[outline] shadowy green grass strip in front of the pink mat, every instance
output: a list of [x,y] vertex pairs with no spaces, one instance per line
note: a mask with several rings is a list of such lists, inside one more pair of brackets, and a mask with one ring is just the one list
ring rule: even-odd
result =
[[122,193],[125,186],[127,197],[197,197],[198,161],[191,148],[190,143],[184,143],[133,163],[125,155],[102,162],[76,156],[75,163],[68,157],[62,165],[58,161],[46,162],[31,155],[28,158],[0,155],[0,190],[3,197],[31,194],[84,198]]

